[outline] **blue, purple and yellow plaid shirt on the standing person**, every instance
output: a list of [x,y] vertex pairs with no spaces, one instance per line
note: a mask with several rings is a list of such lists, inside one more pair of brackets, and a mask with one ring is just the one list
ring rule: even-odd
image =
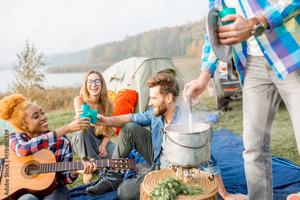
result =
[[[233,1],[233,0],[232,0]],[[246,19],[262,14],[270,28],[255,37],[265,58],[281,80],[300,67],[300,0],[235,0],[238,1]],[[223,10],[223,0],[209,0],[209,8]],[[247,61],[247,42],[234,45],[233,59],[238,69],[241,84],[244,82]],[[218,65],[206,35],[202,52],[201,71],[208,71],[213,77]]]

